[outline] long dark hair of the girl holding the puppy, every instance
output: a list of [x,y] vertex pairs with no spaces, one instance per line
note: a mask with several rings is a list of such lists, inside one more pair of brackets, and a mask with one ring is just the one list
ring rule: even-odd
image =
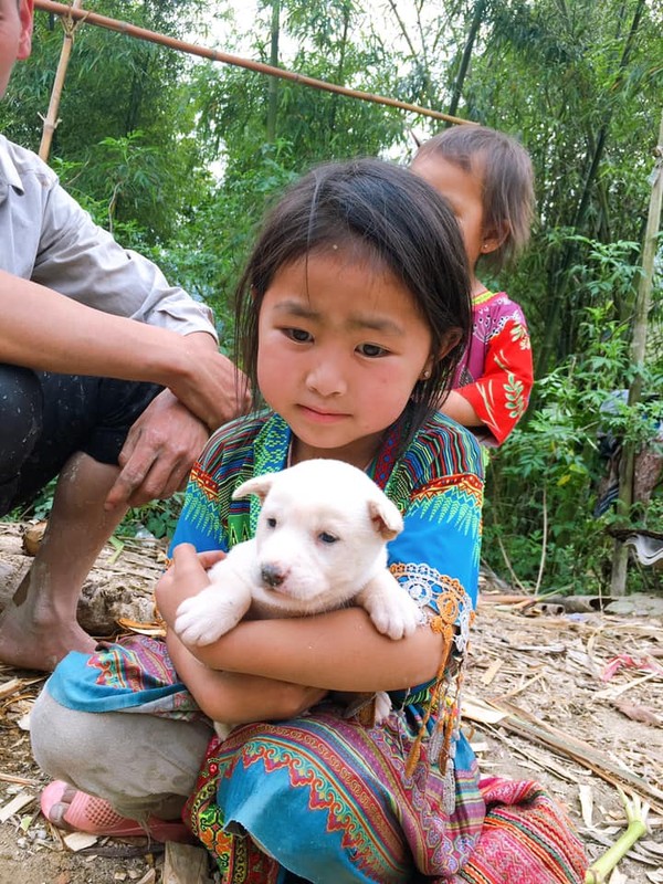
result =
[[432,187],[409,169],[377,159],[318,166],[298,179],[267,214],[236,290],[235,354],[256,385],[257,325],[265,292],[276,273],[312,253],[367,257],[387,269],[411,293],[414,309],[438,352],[444,335],[460,332],[455,347],[413,391],[415,430],[440,401],[471,329],[470,277],[453,212]]

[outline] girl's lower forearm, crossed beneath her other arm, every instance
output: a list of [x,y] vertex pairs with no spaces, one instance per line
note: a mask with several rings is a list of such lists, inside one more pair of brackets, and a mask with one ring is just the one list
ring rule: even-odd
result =
[[211,670],[169,630],[168,653],[202,712],[229,725],[278,720],[301,715],[326,694],[317,687]]

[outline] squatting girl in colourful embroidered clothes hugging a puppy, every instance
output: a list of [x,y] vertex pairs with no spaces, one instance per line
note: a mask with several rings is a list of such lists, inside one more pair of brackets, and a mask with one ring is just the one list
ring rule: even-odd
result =
[[[48,682],[33,749],[65,782],[44,791],[44,813],[97,833],[136,834],[140,820],[156,838],[181,838],[171,820],[188,798],[183,819],[228,884],[580,882],[578,842],[538,794],[527,794],[535,818],[530,829],[517,820],[513,842],[534,832],[532,860],[488,833],[481,861],[486,793],[460,732],[459,690],[482,457],[471,433],[434,410],[470,328],[452,213],[406,169],[317,168],[267,219],[239,296],[243,366],[269,409],[218,431],[193,471],[157,588],[167,651],[144,636],[101,645],[70,654]],[[366,470],[398,504],[406,527],[390,567],[422,624],[392,641],[348,608],[244,621],[211,645],[185,646],[171,629],[179,603],[209,585],[212,550],[255,528],[256,502],[232,501],[233,490],[309,457]],[[332,691],[389,691],[393,712],[362,724]],[[220,741],[210,719],[238,726]],[[493,876],[514,862],[526,877]]]

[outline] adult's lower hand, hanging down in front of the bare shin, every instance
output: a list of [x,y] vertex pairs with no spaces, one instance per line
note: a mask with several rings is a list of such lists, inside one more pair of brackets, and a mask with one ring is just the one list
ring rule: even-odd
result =
[[170,497],[185,486],[208,436],[207,425],[164,390],[128,432],[106,509]]

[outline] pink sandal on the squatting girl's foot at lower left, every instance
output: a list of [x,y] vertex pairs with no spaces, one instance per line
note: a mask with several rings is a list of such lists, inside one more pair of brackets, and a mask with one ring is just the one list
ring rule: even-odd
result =
[[74,832],[86,832],[91,835],[107,835],[113,838],[151,838],[155,841],[192,841],[193,836],[183,822],[176,820],[159,820],[149,817],[145,824],[129,820],[116,813],[107,801],[94,798],[85,792],[76,791],[69,810],[61,823],[51,820],[54,804],[62,803],[66,789],[71,788],[63,780],[49,783],[41,793],[41,811],[52,823],[60,829]]

